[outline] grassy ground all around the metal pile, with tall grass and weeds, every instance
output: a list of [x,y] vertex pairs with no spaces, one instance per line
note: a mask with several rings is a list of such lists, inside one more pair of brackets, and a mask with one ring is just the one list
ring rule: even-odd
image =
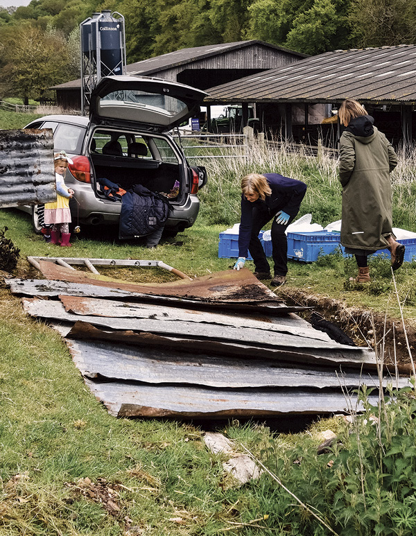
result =
[[[394,178],[395,225],[415,230],[413,160],[407,162]],[[253,155],[250,162],[209,165],[196,225],[151,252],[152,259],[191,277],[232,267],[232,259],[218,259],[218,234],[239,220],[239,178],[245,171],[280,171],[305,180],[309,191],[301,214],[311,212],[325,225],[339,217],[336,163],[329,159],[316,162],[282,151]],[[38,275],[28,255],[62,254],[33,233],[29,216],[21,211],[2,209],[0,228],[5,225],[6,236],[21,250],[20,275]],[[146,248],[121,243],[116,232],[102,228],[83,230],[64,254],[150,258]],[[415,320],[414,265],[397,272],[408,321]],[[372,261],[374,284],[367,288],[345,286],[354,270],[353,261],[337,254],[307,265],[290,262],[286,287],[399,318],[389,261]],[[109,275],[173,279],[145,268],[114,268]],[[333,417],[316,420],[300,433],[277,433],[271,422],[115,419],[85,387],[60,336],[26,317],[20,300],[1,286],[0,535],[413,535],[415,400],[408,390],[380,411],[368,408],[367,424],[356,420],[349,426]],[[289,424],[299,426],[279,426]],[[226,458],[209,453],[202,442],[208,428],[241,442],[304,505],[270,475],[230,487],[222,467]],[[327,429],[339,435],[340,443],[318,456],[320,432]]]

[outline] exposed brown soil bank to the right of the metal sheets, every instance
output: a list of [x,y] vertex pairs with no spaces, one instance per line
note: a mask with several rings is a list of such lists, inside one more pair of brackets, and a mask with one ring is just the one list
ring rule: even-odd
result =
[[[368,344],[374,348],[374,344],[377,344],[380,348],[384,344],[385,363],[388,365],[393,365],[395,359],[401,365],[410,364],[408,345],[415,358],[416,325],[414,322],[406,322],[405,331],[398,318],[386,318],[385,315],[368,309],[347,307],[341,300],[309,294],[300,288],[286,287],[284,291],[282,289],[281,296],[288,305],[313,306],[314,310],[326,320],[345,331],[357,346]],[[306,320],[310,320],[309,311],[302,315]]]

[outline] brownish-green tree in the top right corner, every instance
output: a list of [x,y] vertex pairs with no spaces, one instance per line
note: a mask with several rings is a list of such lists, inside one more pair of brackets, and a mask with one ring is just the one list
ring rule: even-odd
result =
[[416,1],[352,0],[349,22],[356,46],[413,44]]

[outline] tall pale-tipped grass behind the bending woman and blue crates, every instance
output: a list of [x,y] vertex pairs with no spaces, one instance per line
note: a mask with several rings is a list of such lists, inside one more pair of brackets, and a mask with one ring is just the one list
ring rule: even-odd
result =
[[[300,207],[300,216],[311,213],[313,221],[327,225],[341,217],[341,186],[338,182],[338,159],[323,149],[320,157],[300,154],[291,144],[263,144],[254,140],[247,157],[241,148],[224,152],[227,158],[202,159],[209,181],[200,191],[202,217],[207,223],[231,225],[239,221],[240,181],[246,173],[280,173],[302,180],[308,185]],[[399,164],[392,172],[393,225],[416,230],[416,148],[401,149]]]

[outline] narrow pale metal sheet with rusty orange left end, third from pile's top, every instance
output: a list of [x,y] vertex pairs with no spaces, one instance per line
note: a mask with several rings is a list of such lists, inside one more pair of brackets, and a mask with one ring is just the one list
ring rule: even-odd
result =
[[320,340],[331,341],[331,338],[313,329],[313,327],[297,327],[277,322],[264,322],[253,320],[241,315],[210,313],[207,311],[194,311],[191,309],[179,309],[177,307],[166,307],[153,304],[135,304],[132,302],[116,302],[114,300],[97,300],[96,298],[85,298],[75,296],[60,295],[60,300],[67,313],[76,315],[98,315],[111,318],[148,318],[153,320],[184,320],[185,322],[205,322],[223,326],[233,326],[237,328],[251,327],[254,329],[267,329],[268,331],[280,331],[297,335],[300,337],[319,338]]

